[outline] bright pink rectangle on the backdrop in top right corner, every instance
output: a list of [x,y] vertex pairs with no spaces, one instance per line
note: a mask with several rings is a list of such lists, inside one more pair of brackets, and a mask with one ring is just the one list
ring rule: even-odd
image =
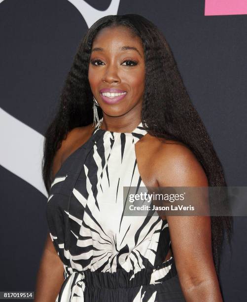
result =
[[246,14],[247,0],[205,0],[205,16]]

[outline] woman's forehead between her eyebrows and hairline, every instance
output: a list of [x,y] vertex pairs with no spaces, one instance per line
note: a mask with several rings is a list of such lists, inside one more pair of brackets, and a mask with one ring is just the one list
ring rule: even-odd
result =
[[141,38],[134,36],[129,28],[123,26],[106,27],[100,30],[100,32],[94,38],[93,47],[112,48],[114,45],[132,45],[138,47],[142,51]]

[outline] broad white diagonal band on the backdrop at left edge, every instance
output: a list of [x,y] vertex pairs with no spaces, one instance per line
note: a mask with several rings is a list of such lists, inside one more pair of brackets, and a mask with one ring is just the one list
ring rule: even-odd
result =
[[44,137],[0,108],[0,164],[47,196],[41,163]]

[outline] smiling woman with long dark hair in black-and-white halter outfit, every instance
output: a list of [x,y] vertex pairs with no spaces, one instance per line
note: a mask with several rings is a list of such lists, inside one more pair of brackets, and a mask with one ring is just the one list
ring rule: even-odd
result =
[[123,215],[124,186],[225,186],[169,45],[150,21],[112,15],[88,30],[45,138],[50,233],[36,302],[222,301],[230,217]]

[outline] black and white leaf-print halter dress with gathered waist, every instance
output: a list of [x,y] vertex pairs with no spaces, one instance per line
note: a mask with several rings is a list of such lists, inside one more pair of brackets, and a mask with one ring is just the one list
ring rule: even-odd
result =
[[[100,129],[55,175],[47,202],[51,239],[64,264],[56,302],[185,301],[158,215],[125,216],[123,187],[145,187],[135,144],[146,134]],[[156,213],[157,214],[157,213]]]

